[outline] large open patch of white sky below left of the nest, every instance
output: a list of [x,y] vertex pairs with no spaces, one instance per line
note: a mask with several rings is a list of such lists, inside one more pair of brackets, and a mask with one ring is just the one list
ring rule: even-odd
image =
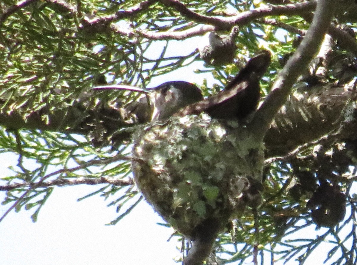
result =
[[[102,197],[76,201],[96,189],[56,187],[36,223],[31,222],[32,211],[7,215],[0,223],[0,264],[177,264],[172,260],[180,254],[177,241],[167,242],[172,229],[156,225],[163,221],[146,202],[117,225],[107,226],[117,214]],[[0,214],[6,209],[1,206]]]

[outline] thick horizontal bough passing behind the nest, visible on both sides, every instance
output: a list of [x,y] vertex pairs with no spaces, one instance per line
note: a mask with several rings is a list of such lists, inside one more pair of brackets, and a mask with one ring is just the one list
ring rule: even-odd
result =
[[[313,88],[306,87],[304,92],[291,95],[283,108],[278,111],[265,135],[267,157],[284,155],[298,145],[327,134],[341,115],[351,93],[351,90],[341,87],[320,84]],[[120,116],[118,110],[108,111],[106,115],[108,119],[100,123],[104,128],[110,127],[112,131],[117,131],[128,126],[117,118]],[[110,119],[110,115],[113,117],[112,119]],[[15,112],[11,115],[0,113],[0,125],[9,129],[40,129],[86,135],[95,129],[86,126],[86,120],[92,123],[98,113],[82,116],[82,112],[76,106],[72,106],[66,110],[66,113],[63,110],[58,110],[49,116],[50,124],[46,124],[41,120],[41,115],[37,113],[32,114],[26,122]],[[114,119],[115,122],[113,122]],[[125,140],[130,140],[130,133],[126,137]]]

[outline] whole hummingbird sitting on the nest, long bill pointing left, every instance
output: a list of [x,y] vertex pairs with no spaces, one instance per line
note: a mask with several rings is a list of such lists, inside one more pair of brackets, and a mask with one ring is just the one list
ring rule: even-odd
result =
[[151,121],[170,116],[207,113],[214,119],[245,119],[256,110],[260,99],[260,79],[270,64],[270,52],[252,57],[230,83],[215,95],[203,98],[201,90],[186,81],[169,81],[143,89],[131,85],[100,85],[93,89],[131,90],[147,95],[152,106]]

